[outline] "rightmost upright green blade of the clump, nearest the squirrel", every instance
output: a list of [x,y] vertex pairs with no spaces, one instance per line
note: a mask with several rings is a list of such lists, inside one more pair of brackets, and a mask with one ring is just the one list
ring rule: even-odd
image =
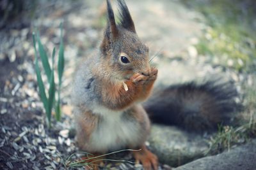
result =
[[60,29],[61,29],[61,39],[60,39],[60,50],[59,50],[59,59],[58,59],[58,76],[59,76],[59,85],[61,86],[61,78],[63,75],[63,70],[64,70],[64,45],[63,45],[63,27],[62,23],[60,24]]

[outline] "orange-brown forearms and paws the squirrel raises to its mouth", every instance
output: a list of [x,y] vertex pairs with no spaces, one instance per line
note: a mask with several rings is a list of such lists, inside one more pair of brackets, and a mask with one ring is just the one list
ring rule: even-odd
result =
[[125,81],[128,87],[126,92],[122,82],[111,83],[109,80],[102,80],[102,104],[113,110],[124,110],[127,106],[131,106],[136,101],[147,99],[152,90],[154,81],[156,80],[157,69],[152,69],[148,76],[140,73],[134,74],[130,80]]

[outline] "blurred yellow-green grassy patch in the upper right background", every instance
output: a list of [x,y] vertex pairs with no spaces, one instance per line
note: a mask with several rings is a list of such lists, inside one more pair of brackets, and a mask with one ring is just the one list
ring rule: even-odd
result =
[[204,36],[196,49],[237,71],[251,71],[256,59],[256,9],[252,0],[182,0],[205,16]]

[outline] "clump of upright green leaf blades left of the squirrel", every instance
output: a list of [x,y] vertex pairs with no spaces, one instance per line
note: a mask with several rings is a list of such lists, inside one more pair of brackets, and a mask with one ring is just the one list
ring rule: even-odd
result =
[[[56,88],[56,83],[55,83],[55,78],[54,78],[54,58],[55,58],[55,53],[56,49],[52,50],[52,67],[49,64],[49,58],[47,56],[47,53],[45,52],[44,46],[42,45],[40,41],[40,36],[39,34],[36,34],[33,32],[33,46],[35,50],[35,71],[36,71],[36,79],[38,83],[38,88],[39,88],[39,94],[40,98],[42,100],[42,103],[44,104],[44,109],[45,113],[47,116],[48,120],[48,125],[51,127],[51,116],[52,116],[52,108],[55,108],[55,115],[56,115],[56,120],[60,121],[61,118],[61,107],[60,107],[60,90],[61,90],[61,78],[63,76],[63,70],[64,70],[64,45],[63,45],[63,27],[62,24],[60,25],[61,28],[61,40],[60,40],[60,50],[58,53],[58,89]],[[36,43],[38,45],[38,52],[40,55],[40,59],[42,62],[42,66],[44,68],[44,73],[47,76],[47,83],[44,83],[42,80],[42,75],[41,75],[41,69],[39,66],[38,62],[38,53],[36,50]],[[49,89],[47,90],[47,84],[49,85]],[[47,90],[47,94],[45,91]],[[58,95],[56,96],[56,90],[58,92]],[[57,100],[56,100],[57,97]]]

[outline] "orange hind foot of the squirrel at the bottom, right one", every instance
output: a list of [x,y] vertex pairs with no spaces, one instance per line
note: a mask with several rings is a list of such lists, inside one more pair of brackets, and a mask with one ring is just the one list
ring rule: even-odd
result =
[[151,153],[145,146],[140,151],[132,152],[136,162],[141,162],[145,170],[157,170],[158,159],[156,155]]

